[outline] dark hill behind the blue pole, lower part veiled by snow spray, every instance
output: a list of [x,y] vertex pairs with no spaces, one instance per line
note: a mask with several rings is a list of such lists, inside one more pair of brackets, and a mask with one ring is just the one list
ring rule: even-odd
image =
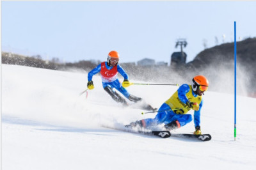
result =
[[[247,95],[256,97],[256,38],[237,42],[236,52],[237,83],[243,86],[240,88]],[[214,88],[221,87],[225,91],[225,86],[234,84],[234,42],[203,50],[193,61],[186,64],[186,71],[204,74],[214,83]],[[222,86],[220,79],[227,84]]]

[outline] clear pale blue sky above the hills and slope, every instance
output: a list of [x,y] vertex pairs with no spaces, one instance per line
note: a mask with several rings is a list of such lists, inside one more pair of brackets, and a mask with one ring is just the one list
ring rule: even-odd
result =
[[256,37],[256,1],[2,1],[2,50],[65,62],[168,62],[178,38],[187,61],[207,47]]

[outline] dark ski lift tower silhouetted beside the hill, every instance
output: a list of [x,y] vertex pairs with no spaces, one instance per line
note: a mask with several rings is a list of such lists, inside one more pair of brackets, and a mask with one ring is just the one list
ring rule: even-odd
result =
[[187,54],[183,52],[183,47],[186,47],[188,43],[186,39],[180,38],[177,40],[175,48],[180,46],[180,52],[173,52],[171,56],[171,66],[177,68],[179,66],[184,66],[186,64]]

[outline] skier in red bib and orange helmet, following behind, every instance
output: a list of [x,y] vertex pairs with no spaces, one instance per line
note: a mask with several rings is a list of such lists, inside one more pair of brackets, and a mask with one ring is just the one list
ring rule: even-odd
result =
[[[108,54],[108,61],[102,62],[93,70],[91,70],[88,73],[88,83],[87,87],[88,89],[93,89],[93,81],[92,77],[93,75],[100,72],[101,78],[102,78],[102,86],[104,90],[115,100],[116,102],[122,103],[124,106],[127,106],[128,103],[126,100],[121,97],[116,91],[113,89],[117,89],[124,95],[124,97],[128,98],[132,102],[138,102],[141,101],[142,98],[136,97],[134,95],[131,95],[125,88],[131,85],[131,83],[128,81],[128,75],[122,68],[122,66],[118,65],[119,61],[119,54],[115,50],[109,52]],[[121,84],[120,81],[117,78],[118,72],[124,77],[124,82]],[[144,104],[143,109],[146,109],[148,111],[156,111],[156,108],[153,108],[151,105]]]

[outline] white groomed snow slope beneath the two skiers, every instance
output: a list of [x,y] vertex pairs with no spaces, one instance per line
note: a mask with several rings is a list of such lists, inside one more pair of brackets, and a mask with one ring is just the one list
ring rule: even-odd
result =
[[[102,127],[156,114],[123,108],[102,89],[99,75],[93,82],[86,99],[79,96],[86,89],[86,72],[2,65],[2,169],[256,168],[255,98],[237,97],[237,141],[234,95],[212,91],[204,95],[201,117],[202,132],[211,134],[211,141],[161,139]],[[127,90],[159,108],[177,88],[132,85]],[[193,130],[191,122],[175,132]]]

